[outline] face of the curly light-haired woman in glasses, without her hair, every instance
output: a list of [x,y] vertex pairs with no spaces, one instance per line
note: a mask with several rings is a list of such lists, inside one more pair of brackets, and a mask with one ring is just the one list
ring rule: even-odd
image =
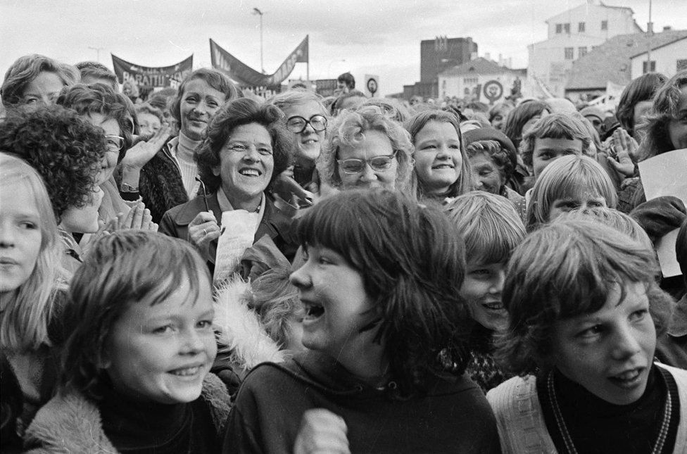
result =
[[[370,130],[365,131],[365,139],[355,144],[355,146],[339,146],[339,160],[343,159],[371,159],[375,156],[391,156],[393,148],[389,137],[383,132]],[[365,165],[363,171],[356,174],[343,172],[340,165],[336,165],[336,172],[339,173],[341,185],[344,190],[348,189],[373,189],[383,187],[394,189],[396,186],[396,170],[398,161],[396,158],[391,160],[391,165],[386,170],[374,170],[369,163]]]

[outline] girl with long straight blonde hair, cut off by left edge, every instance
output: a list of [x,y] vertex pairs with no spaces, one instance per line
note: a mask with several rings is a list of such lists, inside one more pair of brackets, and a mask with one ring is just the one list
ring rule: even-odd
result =
[[[25,427],[56,381],[53,347],[61,334],[54,320],[68,277],[60,259],[57,223],[40,175],[23,160],[0,153],[3,452],[21,447]],[[11,382],[15,389],[5,386]]]

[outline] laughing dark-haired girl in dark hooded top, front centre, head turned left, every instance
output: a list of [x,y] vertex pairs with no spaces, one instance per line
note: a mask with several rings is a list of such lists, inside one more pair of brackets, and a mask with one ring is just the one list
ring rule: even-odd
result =
[[470,320],[455,225],[398,191],[344,191],[310,208],[297,237],[306,260],[291,282],[309,351],[248,374],[223,452],[298,453],[332,438],[354,453],[498,452],[484,394],[462,374]]

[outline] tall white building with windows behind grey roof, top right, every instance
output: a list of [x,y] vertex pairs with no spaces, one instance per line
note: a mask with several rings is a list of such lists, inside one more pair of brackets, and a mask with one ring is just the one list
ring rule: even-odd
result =
[[528,85],[545,87],[553,96],[563,96],[574,61],[618,34],[643,31],[633,15],[631,8],[588,0],[549,18],[548,38],[527,46]]

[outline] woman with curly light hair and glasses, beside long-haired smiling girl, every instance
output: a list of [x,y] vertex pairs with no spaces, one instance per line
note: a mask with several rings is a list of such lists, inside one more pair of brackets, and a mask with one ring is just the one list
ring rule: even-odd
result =
[[398,189],[408,195],[410,135],[377,106],[343,111],[329,128],[317,163],[324,184],[337,189]]

